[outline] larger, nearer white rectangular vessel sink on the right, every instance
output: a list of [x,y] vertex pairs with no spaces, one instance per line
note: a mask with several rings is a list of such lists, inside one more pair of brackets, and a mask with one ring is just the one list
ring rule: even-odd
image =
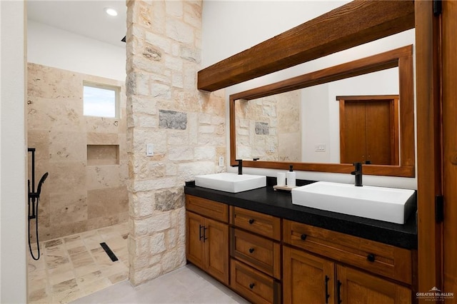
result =
[[404,224],[414,209],[409,189],[318,181],[292,189],[292,203],[326,211]]

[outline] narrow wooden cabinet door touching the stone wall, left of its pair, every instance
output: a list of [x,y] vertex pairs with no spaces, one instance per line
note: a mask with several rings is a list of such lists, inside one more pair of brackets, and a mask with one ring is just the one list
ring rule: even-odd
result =
[[186,212],[186,257],[194,265],[203,268],[204,243],[201,236],[204,233],[204,218]]

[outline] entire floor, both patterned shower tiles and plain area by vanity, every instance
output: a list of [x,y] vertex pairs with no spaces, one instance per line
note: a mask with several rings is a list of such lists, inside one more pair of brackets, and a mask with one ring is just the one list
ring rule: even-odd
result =
[[132,286],[128,235],[124,223],[40,242],[41,258],[29,255],[29,303],[249,303],[191,264]]

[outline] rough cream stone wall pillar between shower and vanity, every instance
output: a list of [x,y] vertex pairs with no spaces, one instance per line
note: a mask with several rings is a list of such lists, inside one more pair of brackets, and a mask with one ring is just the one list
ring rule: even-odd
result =
[[[202,1],[127,1],[129,259],[134,285],[186,263],[184,182],[226,171],[224,91],[200,92]],[[146,156],[146,143],[154,156]]]

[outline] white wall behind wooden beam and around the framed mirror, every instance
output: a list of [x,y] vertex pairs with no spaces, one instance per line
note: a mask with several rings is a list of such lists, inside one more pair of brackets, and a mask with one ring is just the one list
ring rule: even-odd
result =
[[[210,66],[233,54],[250,48],[293,26],[302,24],[313,17],[346,4],[348,1],[204,1],[203,11],[203,66]],[[293,66],[290,69],[255,78],[226,88],[226,96],[249,88],[281,81],[293,76],[324,69],[347,61],[389,51],[408,44],[414,44],[414,29],[401,34],[378,39],[370,44],[356,46],[346,51]],[[268,54],[265,54],[268,56]],[[228,99],[228,98],[227,98]],[[227,103],[227,113],[228,103]],[[229,123],[229,117],[227,117]],[[227,128],[229,138],[229,128]],[[227,151],[229,153],[229,150]],[[229,167],[229,171],[233,171]],[[246,168],[246,173],[276,175],[276,171]],[[297,178],[318,181],[339,181],[353,183],[353,176],[337,173],[297,172]],[[417,188],[416,178],[392,178],[385,176],[364,176],[366,185]]]

